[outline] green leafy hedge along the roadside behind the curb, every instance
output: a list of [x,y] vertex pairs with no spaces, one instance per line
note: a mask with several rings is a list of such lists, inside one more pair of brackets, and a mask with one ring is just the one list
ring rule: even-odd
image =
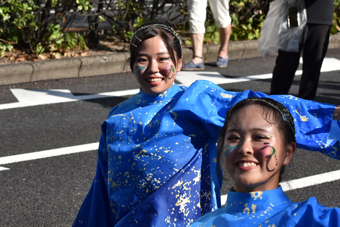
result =
[[[258,39],[270,1],[230,0],[230,40]],[[0,56],[14,48],[37,54],[86,48],[82,35],[66,29],[80,15],[88,18],[89,47],[98,44],[99,24],[103,21],[111,24],[116,38],[128,43],[136,27],[160,17],[177,27],[190,45],[187,0],[152,0],[152,3],[150,6],[150,0],[0,0]],[[332,34],[340,31],[340,0],[335,0],[334,6]],[[220,34],[209,7],[205,26],[204,43],[219,43]]]

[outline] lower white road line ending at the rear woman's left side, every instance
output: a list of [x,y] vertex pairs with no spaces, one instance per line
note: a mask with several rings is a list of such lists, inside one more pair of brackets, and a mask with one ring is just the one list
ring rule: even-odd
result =
[[[12,155],[0,158],[0,165],[10,164],[15,162],[24,162],[36,159],[50,158],[59,155],[73,154],[78,152],[97,150],[99,143],[83,144],[78,146],[68,146],[51,150],[37,151],[26,154]],[[1,170],[6,170],[8,168],[0,167]]]

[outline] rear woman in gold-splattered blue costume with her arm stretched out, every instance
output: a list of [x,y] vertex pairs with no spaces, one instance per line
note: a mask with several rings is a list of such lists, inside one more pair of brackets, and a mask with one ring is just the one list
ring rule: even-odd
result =
[[[141,89],[102,124],[96,176],[74,227],[183,227],[221,207],[216,143],[224,114],[244,98],[267,97],[209,81],[174,83],[181,39],[163,22],[141,25],[130,53]],[[327,140],[335,106],[272,98],[296,111],[299,147],[340,157],[339,140]]]

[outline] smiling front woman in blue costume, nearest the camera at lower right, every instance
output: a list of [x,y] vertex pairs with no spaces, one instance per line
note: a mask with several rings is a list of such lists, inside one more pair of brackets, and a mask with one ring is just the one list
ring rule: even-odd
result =
[[340,227],[339,208],[324,207],[315,197],[293,203],[279,185],[296,149],[294,118],[283,105],[270,98],[247,98],[225,120],[218,157],[223,156],[235,187],[225,206],[189,227]]

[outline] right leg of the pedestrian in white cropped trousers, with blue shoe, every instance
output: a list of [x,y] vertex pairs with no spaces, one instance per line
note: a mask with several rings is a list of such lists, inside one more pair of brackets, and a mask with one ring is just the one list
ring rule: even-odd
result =
[[231,34],[231,17],[229,15],[229,0],[209,0],[210,9],[220,31],[221,46],[216,65],[228,65],[228,42]]

